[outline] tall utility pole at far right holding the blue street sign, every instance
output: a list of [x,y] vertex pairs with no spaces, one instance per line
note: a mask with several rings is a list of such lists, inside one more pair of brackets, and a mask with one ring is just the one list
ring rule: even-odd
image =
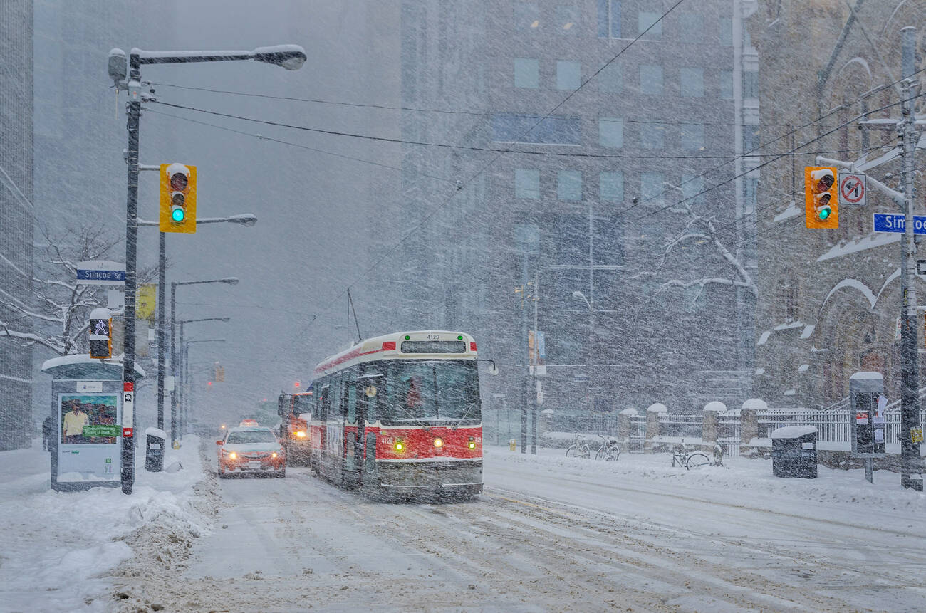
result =
[[[915,68],[916,28],[907,27],[903,32],[901,54],[901,119],[894,121],[864,120],[859,128],[896,131],[903,146],[901,155],[903,193],[899,194],[874,181],[874,186],[891,195],[895,202],[903,206],[906,223],[904,238],[900,242],[900,279],[903,307],[901,309],[900,355],[901,355],[901,392],[900,392],[900,484],[918,492],[923,491],[922,460],[920,445],[913,442],[913,430],[920,427],[920,357],[919,330],[917,328],[917,286],[916,253],[917,243],[913,233],[913,177],[915,170],[914,154],[920,132],[914,113],[914,96],[917,81],[912,78]],[[850,165],[852,168],[853,165]],[[871,183],[872,181],[869,180]]]

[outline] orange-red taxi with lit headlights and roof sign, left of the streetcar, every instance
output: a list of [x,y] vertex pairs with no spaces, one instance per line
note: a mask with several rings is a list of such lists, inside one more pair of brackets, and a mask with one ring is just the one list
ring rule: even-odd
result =
[[248,473],[286,476],[286,453],[269,428],[231,428],[219,445],[219,479]]

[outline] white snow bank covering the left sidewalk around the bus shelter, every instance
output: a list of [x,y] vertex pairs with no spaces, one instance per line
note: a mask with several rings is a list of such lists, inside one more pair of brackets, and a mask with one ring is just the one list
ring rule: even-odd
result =
[[183,466],[174,473],[146,472],[144,448],[138,451],[131,495],[102,487],[54,492],[47,452],[33,446],[0,453],[4,610],[109,610],[112,583],[106,573],[144,553],[135,547],[140,534],[153,527],[208,531],[195,503],[195,484],[203,477],[198,438],[186,437],[181,449],[168,450],[165,464]]

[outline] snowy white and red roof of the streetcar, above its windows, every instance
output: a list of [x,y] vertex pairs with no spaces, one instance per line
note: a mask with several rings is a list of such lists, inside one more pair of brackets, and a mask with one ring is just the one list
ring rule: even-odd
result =
[[[463,342],[462,352],[439,352],[431,353],[409,353],[402,351],[402,343],[410,341],[412,343],[422,343],[421,347],[427,348],[429,342],[454,343]],[[432,347],[435,348],[435,347]],[[315,376],[319,377],[328,372],[344,369],[361,362],[371,362],[373,360],[386,358],[421,358],[430,357],[438,359],[474,359],[476,357],[476,342],[472,336],[466,332],[451,330],[419,330],[414,332],[393,332],[375,336],[365,341],[352,344],[344,351],[331,357],[326,357],[318,366],[315,367]]]

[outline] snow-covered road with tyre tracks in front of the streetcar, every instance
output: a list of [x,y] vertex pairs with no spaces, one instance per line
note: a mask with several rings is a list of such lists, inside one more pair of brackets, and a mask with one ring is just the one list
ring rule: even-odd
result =
[[491,448],[485,493],[444,505],[370,501],[307,469],[210,476],[215,530],[120,589],[166,610],[926,609],[926,497],[896,475],[668,460]]

